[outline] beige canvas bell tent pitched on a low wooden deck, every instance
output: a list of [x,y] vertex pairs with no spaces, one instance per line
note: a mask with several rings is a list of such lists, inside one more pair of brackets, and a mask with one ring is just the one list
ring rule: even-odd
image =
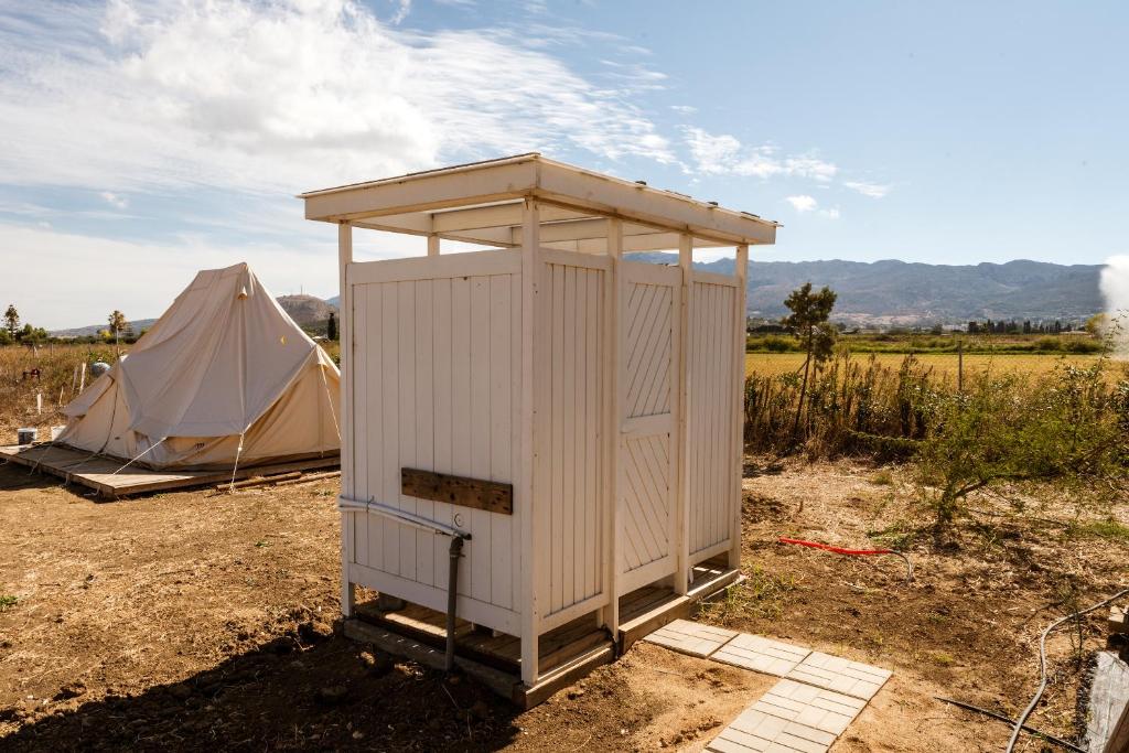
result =
[[64,412],[55,445],[150,469],[335,455],[340,373],[246,264],[204,270]]

